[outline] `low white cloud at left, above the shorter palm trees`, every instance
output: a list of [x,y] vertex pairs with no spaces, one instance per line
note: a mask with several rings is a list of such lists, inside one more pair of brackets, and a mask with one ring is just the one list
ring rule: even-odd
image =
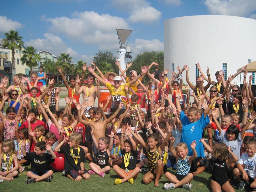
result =
[[25,42],[26,46],[34,46],[37,51],[47,50],[53,55],[59,55],[60,53],[69,53],[70,57],[78,57],[78,53],[72,48],[68,47],[61,38],[51,33],[44,33],[44,39],[31,39]]

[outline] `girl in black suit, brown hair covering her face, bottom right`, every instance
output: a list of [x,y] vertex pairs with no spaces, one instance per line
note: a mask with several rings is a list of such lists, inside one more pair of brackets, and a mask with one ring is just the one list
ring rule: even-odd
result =
[[228,181],[228,172],[230,164],[238,161],[238,157],[226,144],[215,144],[212,149],[204,139],[200,139],[200,142],[203,143],[209,153],[214,155],[212,178],[210,183],[212,191],[235,191]]

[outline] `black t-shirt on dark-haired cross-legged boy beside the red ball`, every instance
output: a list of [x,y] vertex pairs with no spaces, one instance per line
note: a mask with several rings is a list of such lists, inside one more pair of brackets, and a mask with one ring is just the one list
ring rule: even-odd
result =
[[52,155],[44,153],[43,155],[36,155],[36,153],[26,153],[25,160],[31,162],[31,171],[36,174],[44,174],[50,170],[50,164],[54,162]]

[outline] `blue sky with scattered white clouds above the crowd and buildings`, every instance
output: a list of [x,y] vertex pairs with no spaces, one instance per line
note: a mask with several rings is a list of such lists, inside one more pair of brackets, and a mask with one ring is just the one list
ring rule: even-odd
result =
[[164,50],[164,21],[190,15],[232,15],[256,19],[255,0],[19,0],[2,1],[0,40],[17,30],[25,46],[73,62],[90,63],[98,50],[117,56],[117,28],[133,30],[133,58]]

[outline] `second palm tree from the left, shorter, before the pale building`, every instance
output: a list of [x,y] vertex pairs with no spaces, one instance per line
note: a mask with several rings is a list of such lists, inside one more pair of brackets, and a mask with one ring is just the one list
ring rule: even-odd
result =
[[33,67],[37,66],[37,62],[40,60],[40,55],[36,53],[36,49],[33,46],[28,46],[23,51],[21,62],[26,63],[30,67],[30,73],[32,73]]

